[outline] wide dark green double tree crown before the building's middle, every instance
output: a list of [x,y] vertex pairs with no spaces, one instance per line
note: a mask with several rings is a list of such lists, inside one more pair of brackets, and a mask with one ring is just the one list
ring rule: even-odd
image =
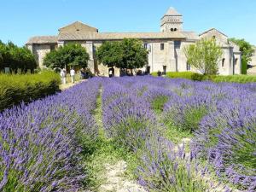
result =
[[119,42],[105,42],[96,52],[97,59],[108,67],[135,69],[148,64],[148,50],[143,42],[125,38]]

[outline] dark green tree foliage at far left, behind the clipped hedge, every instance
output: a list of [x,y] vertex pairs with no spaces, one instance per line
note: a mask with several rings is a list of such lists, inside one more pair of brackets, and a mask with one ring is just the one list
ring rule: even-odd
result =
[[18,47],[12,42],[8,44],[0,42],[0,70],[2,71],[4,67],[9,67],[14,73],[18,68],[26,72],[27,69],[35,69],[37,62],[26,47]]

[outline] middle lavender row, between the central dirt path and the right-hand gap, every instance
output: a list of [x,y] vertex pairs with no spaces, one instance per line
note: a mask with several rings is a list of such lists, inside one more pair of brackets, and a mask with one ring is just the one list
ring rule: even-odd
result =
[[[148,191],[207,191],[210,183],[196,178],[207,170],[185,154],[183,147],[176,148],[164,137],[166,128],[157,122],[150,103],[155,90],[159,91],[156,88],[160,82],[155,80],[104,80],[103,125],[108,137],[137,154],[137,177]],[[155,92],[155,96],[159,95]]]

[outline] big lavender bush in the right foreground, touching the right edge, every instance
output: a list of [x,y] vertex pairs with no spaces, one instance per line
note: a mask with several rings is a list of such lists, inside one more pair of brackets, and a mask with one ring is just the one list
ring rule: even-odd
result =
[[253,94],[237,94],[235,90],[232,96],[231,101],[218,103],[218,111],[202,119],[192,149],[197,150],[198,157],[205,160],[207,157],[218,177],[253,191],[256,189],[256,106]]

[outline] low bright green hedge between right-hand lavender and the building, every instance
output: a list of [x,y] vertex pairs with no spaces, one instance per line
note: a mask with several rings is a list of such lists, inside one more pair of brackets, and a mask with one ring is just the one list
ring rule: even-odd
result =
[[[157,73],[151,73],[153,76],[157,76]],[[202,75],[199,73],[191,72],[167,72],[167,78],[179,78],[179,79],[192,79],[196,81],[212,80],[213,82],[233,82],[233,83],[251,83],[256,82],[256,76],[254,75]]]

